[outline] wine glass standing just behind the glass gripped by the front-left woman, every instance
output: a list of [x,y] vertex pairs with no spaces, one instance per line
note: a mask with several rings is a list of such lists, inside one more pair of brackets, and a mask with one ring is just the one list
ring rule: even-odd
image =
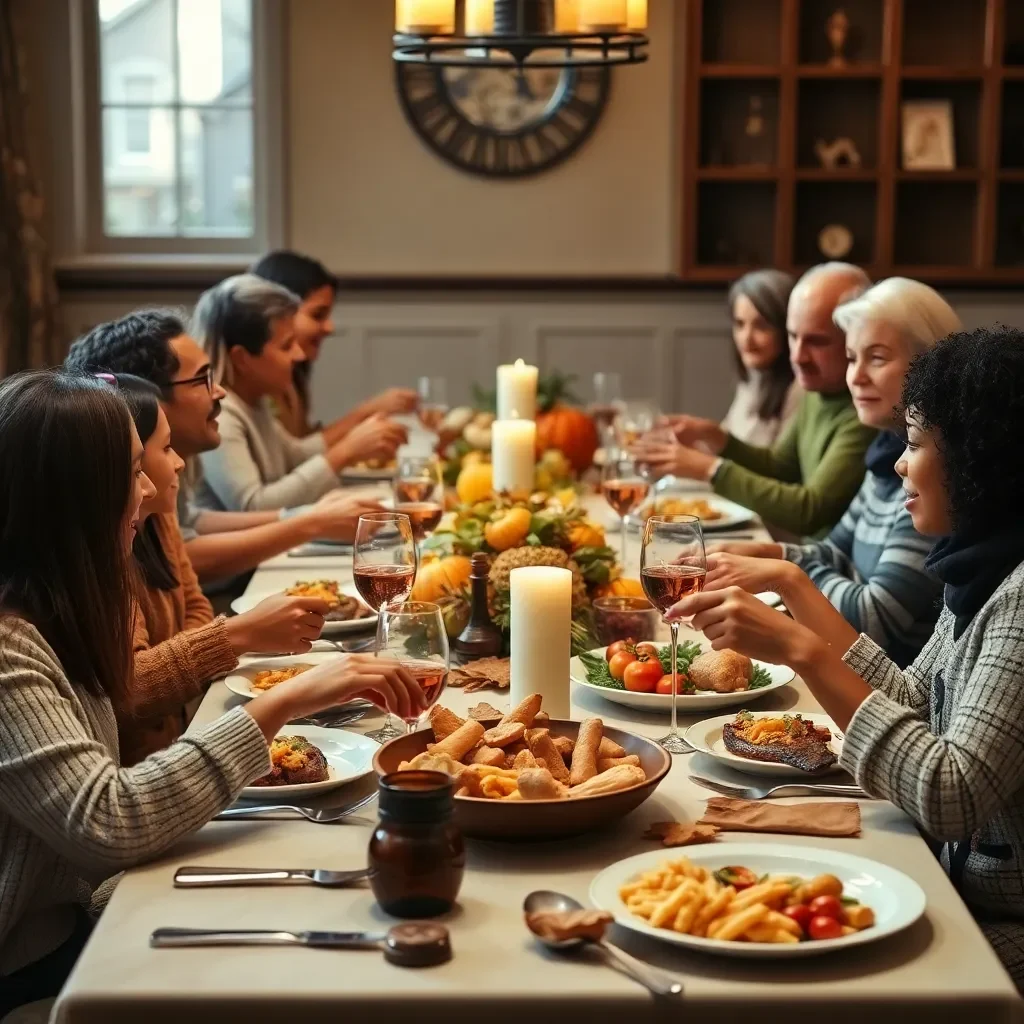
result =
[[[407,601],[413,592],[416,566],[416,540],[408,515],[368,512],[359,516],[352,548],[352,578],[359,596],[377,612],[378,639],[384,609]],[[388,715],[383,728],[368,735],[383,743],[400,733]]]

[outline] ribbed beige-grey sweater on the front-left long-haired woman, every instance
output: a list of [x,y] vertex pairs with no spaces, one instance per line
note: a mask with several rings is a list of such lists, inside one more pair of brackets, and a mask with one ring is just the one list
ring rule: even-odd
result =
[[132,768],[114,708],[68,679],[35,627],[0,625],[0,985],[55,949],[76,904],[161,853],[270,768],[244,709]]

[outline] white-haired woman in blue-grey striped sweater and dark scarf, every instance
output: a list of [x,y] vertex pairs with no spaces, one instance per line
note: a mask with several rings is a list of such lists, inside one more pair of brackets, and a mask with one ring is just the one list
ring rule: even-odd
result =
[[942,589],[924,567],[931,542],[913,528],[895,465],[904,449],[900,392],[914,356],[962,329],[933,289],[889,278],[838,306],[846,333],[847,385],[857,417],[880,430],[867,474],[839,524],[811,544],[723,544],[713,549],[709,590],[775,591],[793,616],[814,629],[831,605],[900,667],[921,651],[935,625]]

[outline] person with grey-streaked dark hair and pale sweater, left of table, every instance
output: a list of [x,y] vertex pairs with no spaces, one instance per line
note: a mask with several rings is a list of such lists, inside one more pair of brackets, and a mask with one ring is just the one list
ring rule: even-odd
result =
[[267,404],[304,358],[295,337],[298,299],[255,274],[228,278],[196,306],[193,334],[206,349],[227,394],[220,409],[220,445],[200,456],[199,504],[261,511],[314,502],[338,486],[343,466],[389,459],[404,430],[385,417],[364,420],[340,439],[324,432],[296,438]]

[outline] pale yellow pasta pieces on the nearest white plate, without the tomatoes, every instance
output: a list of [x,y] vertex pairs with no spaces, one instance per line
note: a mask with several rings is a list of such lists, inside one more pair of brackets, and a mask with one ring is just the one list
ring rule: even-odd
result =
[[[795,898],[798,894],[840,898],[843,883],[831,874],[809,881],[776,877],[737,891],[723,885],[707,868],[681,857],[663,861],[618,889],[618,897],[630,912],[653,928],[720,942],[776,944],[800,942],[805,937],[801,924],[782,912],[786,906],[803,902]],[[870,907],[857,903],[844,906],[844,935],[873,924]]]

